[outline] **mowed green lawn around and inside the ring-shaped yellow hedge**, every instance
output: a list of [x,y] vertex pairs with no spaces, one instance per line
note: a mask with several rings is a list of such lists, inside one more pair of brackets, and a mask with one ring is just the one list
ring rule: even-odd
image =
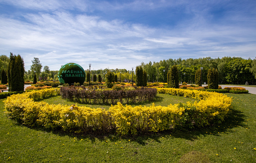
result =
[[[7,118],[1,100],[0,162],[253,163],[256,160],[256,95],[228,96],[233,96],[233,108],[222,124],[138,136],[79,135],[29,128]],[[189,99],[159,94],[154,102],[167,106],[186,100]],[[46,101],[66,103],[60,97]]]

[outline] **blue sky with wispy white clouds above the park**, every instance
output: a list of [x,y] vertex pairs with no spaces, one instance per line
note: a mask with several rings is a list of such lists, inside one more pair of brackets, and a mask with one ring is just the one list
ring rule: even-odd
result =
[[[256,57],[255,0],[0,0],[0,55],[59,70]],[[42,69],[43,70],[43,69]]]

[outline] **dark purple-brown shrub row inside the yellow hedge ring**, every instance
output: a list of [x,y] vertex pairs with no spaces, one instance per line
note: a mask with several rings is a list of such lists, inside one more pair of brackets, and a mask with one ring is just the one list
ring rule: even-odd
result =
[[157,91],[154,88],[140,87],[134,90],[122,90],[121,86],[116,87],[120,89],[90,90],[85,86],[61,87],[60,95],[63,99],[79,103],[116,104],[117,102],[138,103],[151,101],[157,94]]

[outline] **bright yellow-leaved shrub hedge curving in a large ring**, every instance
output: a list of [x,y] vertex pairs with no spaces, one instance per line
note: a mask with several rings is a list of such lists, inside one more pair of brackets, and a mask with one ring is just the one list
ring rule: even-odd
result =
[[202,127],[212,121],[222,121],[229,111],[231,98],[216,92],[158,88],[159,93],[190,97],[198,101],[167,107],[123,106],[121,103],[109,110],[78,106],[53,105],[35,102],[55,96],[59,89],[34,90],[11,95],[5,100],[6,113],[25,125],[43,126],[72,132],[117,131],[123,135],[157,132],[180,127]]

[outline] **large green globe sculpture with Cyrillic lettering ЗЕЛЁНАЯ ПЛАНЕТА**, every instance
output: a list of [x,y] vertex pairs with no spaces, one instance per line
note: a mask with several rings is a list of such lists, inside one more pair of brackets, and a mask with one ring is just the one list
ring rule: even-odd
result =
[[63,65],[58,73],[60,83],[68,83],[69,85],[74,83],[84,84],[85,81],[84,69],[76,63],[67,63]]

